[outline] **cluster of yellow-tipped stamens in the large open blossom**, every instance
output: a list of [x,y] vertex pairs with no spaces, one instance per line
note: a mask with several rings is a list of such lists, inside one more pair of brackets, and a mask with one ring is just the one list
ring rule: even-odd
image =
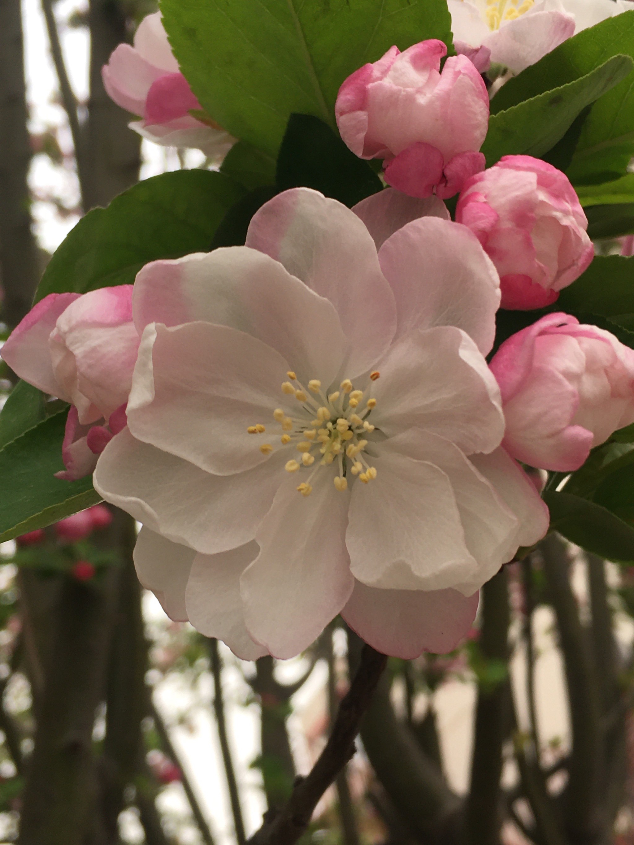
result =
[[[289,417],[281,408],[276,408],[273,418],[281,426],[281,444],[293,448],[299,454],[287,461],[287,472],[298,472],[312,467],[309,476],[298,485],[298,493],[309,496],[313,492],[311,482],[321,466],[337,463],[339,473],[335,477],[337,490],[346,490],[348,477],[358,477],[364,484],[376,478],[376,468],[370,466],[364,454],[369,435],[374,425],[369,417],[376,407],[372,397],[372,384],[380,373],[370,373],[366,390],[355,390],[350,379],[344,379],[339,390],[325,394],[319,379],[311,379],[308,390],[298,381],[296,373],[289,370],[288,381],[281,385],[281,392],[294,396],[298,401],[298,413]],[[265,433],[261,423],[249,426],[249,434]],[[273,445],[260,446],[263,455],[271,455]]]

